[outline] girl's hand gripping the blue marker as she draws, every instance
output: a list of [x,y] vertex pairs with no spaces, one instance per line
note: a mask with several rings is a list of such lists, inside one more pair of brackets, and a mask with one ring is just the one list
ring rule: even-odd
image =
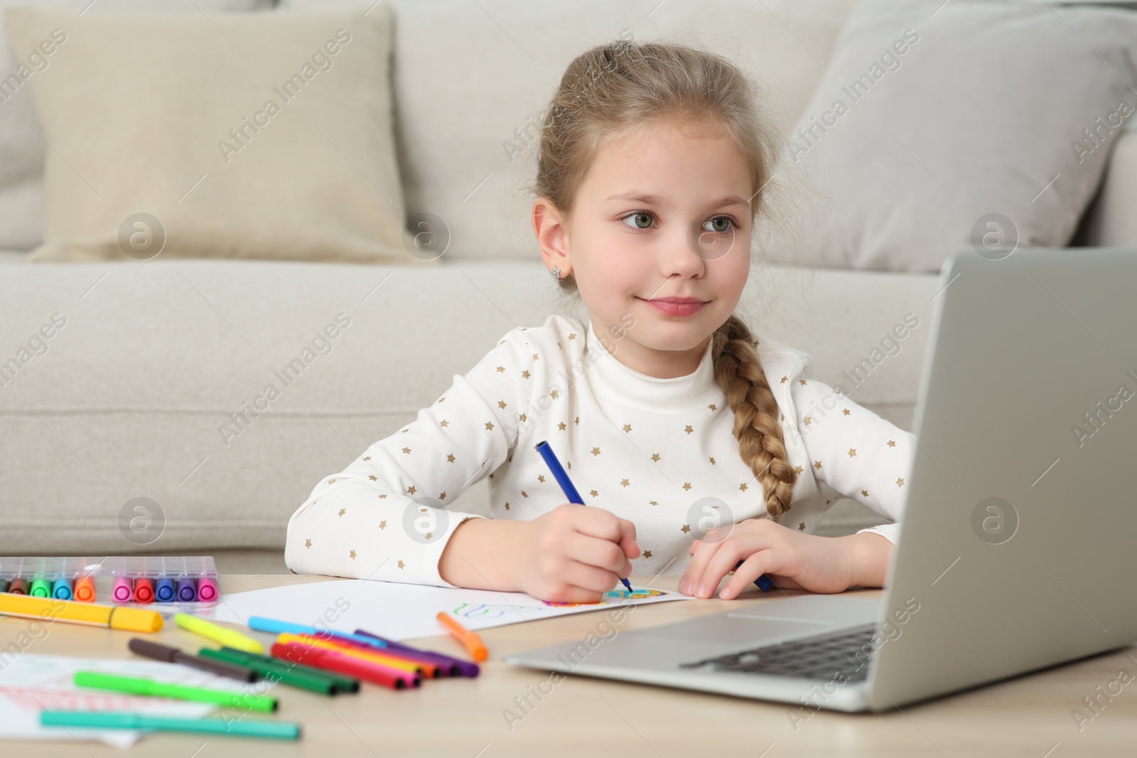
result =
[[604,508],[566,502],[524,524],[514,582],[550,602],[598,602],[631,573],[636,525]]

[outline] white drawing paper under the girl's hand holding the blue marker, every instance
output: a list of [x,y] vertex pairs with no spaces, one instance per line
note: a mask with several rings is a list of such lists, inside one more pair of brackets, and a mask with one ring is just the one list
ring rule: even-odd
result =
[[453,615],[467,630],[476,631],[611,609],[619,605],[690,600],[679,592],[634,585],[632,589],[649,594],[629,599],[606,597],[600,602],[582,605],[556,605],[524,592],[342,580],[226,594],[215,609],[214,618],[246,624],[249,616],[264,616],[337,632],[363,628],[389,640],[401,641],[446,634],[446,628],[435,618],[440,610]]

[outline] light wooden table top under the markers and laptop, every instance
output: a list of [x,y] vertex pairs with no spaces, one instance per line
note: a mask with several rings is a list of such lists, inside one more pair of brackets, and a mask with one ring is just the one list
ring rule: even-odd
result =
[[[223,576],[224,592],[241,592],[327,577],[290,575]],[[674,590],[679,576],[633,576],[632,582]],[[877,595],[879,590],[861,590]],[[799,594],[799,593],[792,593]],[[764,602],[752,590],[737,600],[687,600],[644,606],[626,614],[619,631]],[[210,758],[213,756],[1131,756],[1137,751],[1137,681],[1106,701],[1079,731],[1071,711],[1086,710],[1121,669],[1137,676],[1134,649],[1060,666],[888,714],[819,711],[797,728],[792,706],[678,689],[567,676],[538,701],[530,694],[547,672],[504,664],[499,657],[582,639],[595,631],[599,614],[576,614],[485,630],[490,660],[478,678],[435,680],[420,690],[396,692],[365,684],[359,694],[319,697],[277,686],[277,718],[298,720],[299,741],[163,733],[143,738],[132,756]],[[24,619],[0,618],[0,647],[26,627]],[[617,631],[617,634],[619,634]],[[977,633],[978,630],[977,630]],[[53,624],[28,652],[125,658],[127,632]],[[167,625],[158,642],[197,650],[201,640]],[[267,639],[267,638],[265,638]],[[423,648],[460,655],[449,638],[416,641]],[[1137,658],[1137,652],[1135,652]],[[531,689],[532,688],[532,689]],[[533,703],[526,713],[515,698]],[[522,715],[507,723],[505,711]],[[1090,713],[1092,711],[1087,711]],[[0,756],[121,756],[101,743],[0,742]]]

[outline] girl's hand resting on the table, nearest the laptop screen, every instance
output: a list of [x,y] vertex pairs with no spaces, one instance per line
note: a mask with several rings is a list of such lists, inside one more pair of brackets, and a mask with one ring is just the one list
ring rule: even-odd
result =
[[[853,556],[847,542],[805,534],[769,518],[747,518],[713,528],[688,550],[691,560],[679,591],[709,598],[728,572],[735,570],[719,597],[729,600],[765,574],[783,590],[844,592],[852,584]],[[744,561],[735,569],[735,565]]]

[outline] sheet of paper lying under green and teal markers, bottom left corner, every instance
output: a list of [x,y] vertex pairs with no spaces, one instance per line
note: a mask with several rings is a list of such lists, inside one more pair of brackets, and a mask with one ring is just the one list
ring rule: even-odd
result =
[[42,726],[40,711],[130,710],[151,716],[201,718],[216,709],[216,706],[207,702],[144,698],[77,688],[72,681],[75,672],[80,670],[144,676],[174,684],[238,692],[250,686],[188,666],[160,661],[3,653],[0,655],[0,739],[68,742],[97,740],[116,748],[130,748],[146,732]]

